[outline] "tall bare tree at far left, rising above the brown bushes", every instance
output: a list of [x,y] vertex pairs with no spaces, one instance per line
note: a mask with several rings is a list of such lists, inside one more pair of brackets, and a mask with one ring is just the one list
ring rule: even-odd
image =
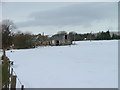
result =
[[3,55],[5,55],[5,50],[12,45],[12,31],[15,29],[15,25],[11,20],[3,20],[0,23],[0,29],[2,29],[2,49]]

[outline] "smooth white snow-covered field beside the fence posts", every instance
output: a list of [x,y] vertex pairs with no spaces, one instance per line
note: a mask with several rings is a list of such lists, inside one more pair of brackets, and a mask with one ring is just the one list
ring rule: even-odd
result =
[[117,88],[118,41],[76,44],[7,51],[7,56],[26,88]]

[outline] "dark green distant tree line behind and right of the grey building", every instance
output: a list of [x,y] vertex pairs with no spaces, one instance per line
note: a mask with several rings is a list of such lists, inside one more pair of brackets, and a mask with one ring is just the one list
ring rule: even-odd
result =
[[60,34],[67,34],[72,41],[81,41],[81,40],[111,40],[111,39],[120,39],[120,34],[115,34],[114,32],[110,32],[109,30],[106,32],[99,32],[99,33],[85,33],[85,34],[78,34],[76,32],[65,32],[60,31],[56,35]]

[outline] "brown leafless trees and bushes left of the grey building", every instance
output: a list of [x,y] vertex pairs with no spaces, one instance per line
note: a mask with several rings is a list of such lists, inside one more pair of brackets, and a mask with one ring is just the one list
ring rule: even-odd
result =
[[14,30],[16,26],[11,20],[3,20],[0,23],[0,35],[2,39],[0,42],[2,43],[0,46],[4,51],[10,48],[17,48],[17,49],[25,49],[25,48],[34,48],[41,44],[41,42],[48,39],[47,36],[38,34],[33,35],[30,33],[22,33],[17,32],[15,33]]

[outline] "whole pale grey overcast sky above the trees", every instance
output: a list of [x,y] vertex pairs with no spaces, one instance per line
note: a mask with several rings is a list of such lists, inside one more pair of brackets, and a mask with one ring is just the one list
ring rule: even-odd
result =
[[117,2],[5,2],[3,19],[12,20],[18,30],[34,34],[58,31],[77,33],[117,31]]

